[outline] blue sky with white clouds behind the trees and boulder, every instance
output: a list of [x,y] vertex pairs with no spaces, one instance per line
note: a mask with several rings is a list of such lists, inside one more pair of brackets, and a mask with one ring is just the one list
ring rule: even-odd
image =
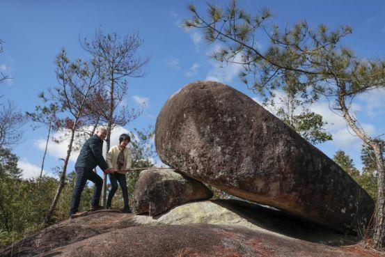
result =
[[[79,38],[92,38],[100,26],[106,33],[123,36],[139,31],[144,44],[139,55],[150,56],[147,76],[129,79],[129,92],[125,103],[136,107],[146,102],[143,114],[116,135],[134,127],[155,125],[157,114],[167,98],[184,84],[194,80],[214,79],[237,88],[251,98],[257,95],[246,89],[237,78],[239,67],[219,67],[209,58],[219,45],[207,45],[200,31],[184,31],[180,22],[190,17],[188,3],[195,3],[198,11],[206,10],[206,1],[0,1],[0,39],[5,41],[0,55],[0,69],[13,77],[0,86],[1,100],[12,100],[22,111],[33,111],[41,104],[38,93],[56,86],[54,58],[62,47],[70,58],[86,58],[79,46]],[[223,4],[225,1],[210,1]],[[340,24],[353,27],[354,33],[345,44],[359,56],[385,57],[385,2],[360,1],[239,1],[249,11],[269,7],[274,21],[281,26],[306,19],[311,26],[325,23],[331,28]],[[263,47],[263,42],[261,42]],[[373,91],[357,98],[356,115],[372,135],[385,133],[385,92]],[[317,145],[324,153],[333,156],[338,149],[345,150],[361,166],[359,139],[349,134],[342,118],[329,111],[327,102],[320,102],[314,111],[324,115],[334,140]],[[44,130],[32,131],[22,127],[24,139],[13,150],[19,156],[19,166],[25,169],[24,177],[36,175],[42,158]],[[384,136],[382,136],[384,139]],[[45,171],[60,164],[65,155],[65,143],[49,146]],[[72,157],[73,168],[76,153]]]

